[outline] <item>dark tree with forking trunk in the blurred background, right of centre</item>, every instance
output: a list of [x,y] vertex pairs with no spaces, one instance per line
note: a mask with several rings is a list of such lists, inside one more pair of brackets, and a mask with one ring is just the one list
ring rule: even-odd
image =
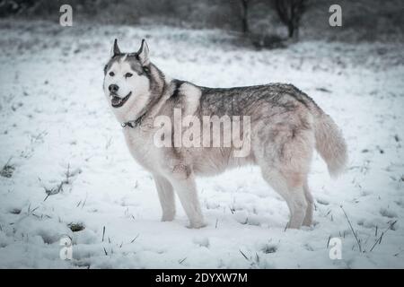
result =
[[277,15],[287,27],[289,38],[299,38],[299,25],[307,9],[306,0],[275,0]]

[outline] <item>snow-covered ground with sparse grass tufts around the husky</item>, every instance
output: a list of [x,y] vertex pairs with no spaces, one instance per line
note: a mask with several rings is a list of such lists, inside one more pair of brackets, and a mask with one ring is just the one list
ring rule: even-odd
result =
[[[220,30],[5,20],[0,35],[0,267],[404,267],[403,44],[255,51]],[[172,77],[294,83],[312,96],[349,146],[337,180],[315,156],[314,226],[285,230],[285,202],[253,167],[198,179],[206,228],[187,229],[180,204],[174,222],[160,222],[153,179],[127,152],[101,91],[114,38],[124,51],[148,39]],[[59,258],[64,235],[72,261]],[[329,258],[333,237],[341,260]]]

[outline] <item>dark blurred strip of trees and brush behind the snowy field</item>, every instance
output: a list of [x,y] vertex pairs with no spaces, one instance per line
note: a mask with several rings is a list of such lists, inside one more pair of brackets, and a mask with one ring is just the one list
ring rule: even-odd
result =
[[[58,21],[62,4],[72,5],[75,22],[222,29],[259,48],[288,38],[402,41],[404,35],[401,0],[0,0],[0,17]],[[343,7],[337,30],[329,26],[331,4]]]

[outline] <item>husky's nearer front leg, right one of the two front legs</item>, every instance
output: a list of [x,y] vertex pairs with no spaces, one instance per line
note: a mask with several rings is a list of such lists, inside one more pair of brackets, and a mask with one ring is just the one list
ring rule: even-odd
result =
[[170,181],[172,187],[174,187],[180,197],[180,203],[185,213],[187,213],[190,223],[189,228],[201,228],[206,226],[200,209],[194,176],[190,174],[182,177],[177,174],[177,176],[171,177]]

